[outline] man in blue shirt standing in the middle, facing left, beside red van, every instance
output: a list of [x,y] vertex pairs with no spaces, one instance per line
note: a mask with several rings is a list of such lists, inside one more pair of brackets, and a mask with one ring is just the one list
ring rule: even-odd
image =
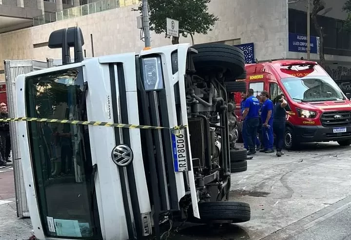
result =
[[263,91],[260,97],[263,101],[261,109],[261,120],[263,122],[262,137],[264,142],[264,152],[273,153],[273,102],[269,99],[269,94],[267,91]]

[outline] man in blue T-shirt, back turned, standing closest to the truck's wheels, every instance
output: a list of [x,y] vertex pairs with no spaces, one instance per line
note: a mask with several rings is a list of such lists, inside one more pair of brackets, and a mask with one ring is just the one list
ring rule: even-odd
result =
[[248,155],[254,155],[256,153],[255,142],[257,139],[257,127],[258,127],[258,111],[259,111],[259,100],[254,97],[254,89],[247,90],[247,99],[245,101],[245,110],[242,115],[245,124],[245,138],[246,143],[249,147]]

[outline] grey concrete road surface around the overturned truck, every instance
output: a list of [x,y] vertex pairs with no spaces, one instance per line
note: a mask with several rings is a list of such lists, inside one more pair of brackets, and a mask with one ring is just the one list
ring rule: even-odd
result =
[[[0,172],[0,240],[28,239],[32,227],[16,218],[8,187],[13,174],[6,171]],[[250,221],[220,229],[187,225],[168,239],[351,240],[351,146],[307,144],[281,158],[260,153],[248,171],[232,177],[231,200],[250,203]]]

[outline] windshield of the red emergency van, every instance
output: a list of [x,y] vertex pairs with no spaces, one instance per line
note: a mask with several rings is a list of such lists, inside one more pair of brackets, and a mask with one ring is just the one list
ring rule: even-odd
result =
[[285,78],[281,82],[297,102],[345,100],[337,84],[328,76]]

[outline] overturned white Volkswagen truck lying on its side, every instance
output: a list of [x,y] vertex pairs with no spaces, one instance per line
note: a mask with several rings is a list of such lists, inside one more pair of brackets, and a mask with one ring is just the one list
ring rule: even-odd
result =
[[229,200],[236,121],[224,84],[243,73],[241,50],[179,44],[83,60],[83,44],[78,27],[53,32],[63,65],[16,82],[35,236],[160,239],[167,221],[250,220],[249,204]]

